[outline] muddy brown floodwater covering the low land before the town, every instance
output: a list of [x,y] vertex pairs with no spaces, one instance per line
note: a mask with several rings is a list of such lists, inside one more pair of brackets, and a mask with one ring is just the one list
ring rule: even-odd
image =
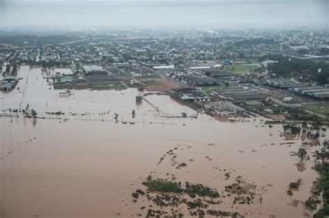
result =
[[[317,173],[312,161],[305,161],[303,169],[296,166],[298,157],[289,152],[298,151],[301,137],[285,140],[280,125],[270,129],[260,118],[220,122],[204,114],[166,118],[145,101],[136,105],[135,89],[80,90],[59,97],[40,69],[22,66],[19,77],[19,90],[0,93],[1,113],[15,115],[6,109],[28,104],[45,118],[0,117],[0,217],[145,216],[140,207],[150,203],[133,203],[131,193],[149,174],[167,178],[167,173],[217,190],[237,176],[257,185],[261,203],[231,208],[223,201],[214,206],[218,210],[246,212],[246,217],[305,215],[303,204],[292,206],[292,200],[310,196]],[[146,98],[166,114],[196,113],[169,96]],[[65,114],[46,113],[56,111]],[[177,161],[187,166],[177,169],[167,158],[158,164],[176,146]],[[223,169],[230,179],[224,179]],[[301,188],[289,197],[289,183],[298,178]]]

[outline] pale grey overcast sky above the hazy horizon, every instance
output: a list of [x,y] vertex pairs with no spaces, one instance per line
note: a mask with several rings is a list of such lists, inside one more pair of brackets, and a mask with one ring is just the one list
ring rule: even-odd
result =
[[329,27],[329,0],[0,0],[2,27]]

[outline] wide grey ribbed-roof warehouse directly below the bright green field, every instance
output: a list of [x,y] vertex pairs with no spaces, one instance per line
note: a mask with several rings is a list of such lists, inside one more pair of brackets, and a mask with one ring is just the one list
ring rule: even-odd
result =
[[212,94],[233,102],[246,102],[251,100],[265,100],[267,96],[255,89],[230,88],[212,91]]

